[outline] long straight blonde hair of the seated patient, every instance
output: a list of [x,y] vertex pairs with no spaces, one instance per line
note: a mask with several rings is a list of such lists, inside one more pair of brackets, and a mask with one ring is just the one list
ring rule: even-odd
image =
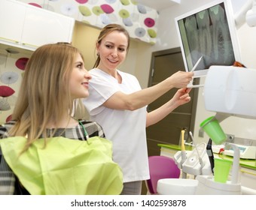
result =
[[39,47],[29,58],[12,114],[16,124],[9,132],[10,136],[27,136],[24,150],[39,136],[47,136],[49,121],[57,124],[73,110],[69,78],[78,53],[71,44],[53,43]]

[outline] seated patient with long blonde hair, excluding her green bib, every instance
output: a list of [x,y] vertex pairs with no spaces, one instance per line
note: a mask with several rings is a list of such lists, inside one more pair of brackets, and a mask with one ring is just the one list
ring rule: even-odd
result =
[[[81,141],[93,136],[105,137],[102,127],[96,122],[73,117],[78,107],[75,101],[89,95],[90,80],[91,76],[84,68],[83,56],[71,44],[53,43],[36,49],[27,63],[12,120],[0,126],[0,142],[9,136],[26,136],[26,144],[20,148],[19,154],[19,157],[23,157],[23,153],[35,147],[38,139],[44,139],[45,152],[48,151],[50,156],[46,141],[49,137],[62,136]],[[59,144],[62,145],[62,142]],[[56,151],[61,147],[65,145],[56,148]],[[69,151],[69,148],[64,149]],[[30,194],[33,189],[26,189],[20,183],[19,176],[9,167],[6,158],[0,148],[0,194]],[[76,163],[73,164],[75,166]],[[88,171],[84,178],[89,174]],[[103,175],[108,178],[108,174]],[[67,172],[66,176],[71,178],[72,173]],[[69,189],[66,193],[69,193]]]

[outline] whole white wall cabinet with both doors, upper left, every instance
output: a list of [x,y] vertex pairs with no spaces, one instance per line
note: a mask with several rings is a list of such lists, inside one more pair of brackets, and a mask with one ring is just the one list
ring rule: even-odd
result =
[[71,42],[75,20],[20,1],[0,2],[0,43],[35,50],[45,43]]

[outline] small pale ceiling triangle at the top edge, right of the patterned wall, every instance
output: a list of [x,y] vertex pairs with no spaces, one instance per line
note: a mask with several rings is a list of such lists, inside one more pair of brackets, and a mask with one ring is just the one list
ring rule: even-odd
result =
[[180,4],[181,0],[137,0],[137,2],[160,11],[172,7],[172,5]]

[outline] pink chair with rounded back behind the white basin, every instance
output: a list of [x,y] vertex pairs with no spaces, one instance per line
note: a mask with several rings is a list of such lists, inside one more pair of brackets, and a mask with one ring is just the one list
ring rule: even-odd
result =
[[161,178],[179,178],[181,170],[171,157],[149,156],[150,179],[146,180],[148,193],[157,194],[157,181]]

